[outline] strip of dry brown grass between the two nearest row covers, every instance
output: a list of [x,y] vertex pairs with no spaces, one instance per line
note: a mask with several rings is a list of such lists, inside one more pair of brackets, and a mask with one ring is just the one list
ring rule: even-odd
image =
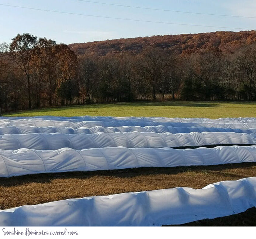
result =
[[175,187],[203,188],[256,176],[256,163],[67,172],[0,179],[0,209],[86,196]]

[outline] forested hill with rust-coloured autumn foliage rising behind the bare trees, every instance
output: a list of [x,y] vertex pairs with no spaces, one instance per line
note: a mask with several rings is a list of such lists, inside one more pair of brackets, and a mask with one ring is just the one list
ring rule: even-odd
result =
[[108,53],[119,53],[121,51],[132,51],[136,54],[146,46],[158,46],[163,49],[172,48],[180,54],[190,54],[198,50],[220,50],[232,53],[242,45],[253,42],[256,42],[256,31],[222,31],[73,43],[69,47],[76,54],[87,53],[97,56],[105,56]]

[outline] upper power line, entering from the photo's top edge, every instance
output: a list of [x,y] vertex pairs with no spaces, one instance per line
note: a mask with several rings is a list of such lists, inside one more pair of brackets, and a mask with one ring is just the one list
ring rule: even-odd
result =
[[195,13],[195,12],[175,11],[175,10],[166,10],[166,9],[149,8],[149,7],[135,7],[135,6],[120,5],[120,4],[112,4],[112,3],[101,3],[101,2],[96,2],[96,1],[86,1],[86,0],[75,0],[75,1],[81,1],[81,2],[86,2],[86,3],[97,3],[97,4],[104,4],[104,5],[118,6],[118,7],[130,7],[130,8],[140,8],[140,9],[146,9],[146,10],[166,11],[166,12],[174,12],[174,13],[190,13],[190,14],[200,14],[200,15],[221,16],[221,17],[256,18],[256,17],[225,15],[225,14]]

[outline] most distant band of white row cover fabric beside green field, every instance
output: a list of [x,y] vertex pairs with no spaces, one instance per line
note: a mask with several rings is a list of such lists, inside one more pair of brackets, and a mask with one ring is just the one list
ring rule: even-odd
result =
[[162,118],[162,117],[1,117],[0,127],[5,126],[37,126],[37,127],[94,127],[103,126],[172,126],[172,127],[207,127],[207,128],[256,128],[255,118],[210,120],[205,118]]

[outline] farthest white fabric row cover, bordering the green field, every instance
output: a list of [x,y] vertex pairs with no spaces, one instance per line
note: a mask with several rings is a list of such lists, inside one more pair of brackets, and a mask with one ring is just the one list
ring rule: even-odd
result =
[[[145,117],[144,117],[145,118]],[[94,127],[94,126],[103,126],[106,127],[116,127],[116,126],[172,126],[172,127],[207,127],[207,128],[233,128],[233,129],[249,129],[256,128],[256,121],[204,121],[204,120],[181,120],[182,122],[172,122],[172,121],[146,121],[152,120],[151,118],[145,119],[113,119],[111,121],[102,121],[102,120],[94,120],[94,121],[60,121],[60,120],[41,120],[41,119],[29,119],[29,120],[8,120],[2,119],[0,120],[0,127],[5,126],[37,126],[37,127],[72,127],[72,128],[80,128],[80,127]]]

